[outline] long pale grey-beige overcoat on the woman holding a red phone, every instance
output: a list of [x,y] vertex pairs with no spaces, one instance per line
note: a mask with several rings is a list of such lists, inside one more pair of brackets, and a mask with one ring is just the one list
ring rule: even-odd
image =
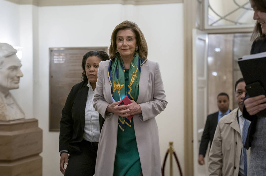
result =
[[[118,116],[105,113],[109,104],[115,102],[111,95],[108,77],[110,60],[100,62],[93,107],[105,122],[99,138],[95,176],[113,176],[117,146]],[[139,97],[142,114],[134,115],[134,129],[143,176],[161,175],[161,158],[158,127],[155,116],[167,105],[160,68],[157,62],[147,60],[141,66]],[[130,156],[129,156],[130,157]]]

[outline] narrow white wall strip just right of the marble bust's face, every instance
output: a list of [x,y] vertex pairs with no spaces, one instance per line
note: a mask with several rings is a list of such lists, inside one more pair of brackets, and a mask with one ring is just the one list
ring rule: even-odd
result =
[[23,77],[20,81],[18,90],[14,90],[13,95],[20,103],[26,118],[34,118],[33,116],[33,33],[32,33],[32,5],[19,6],[19,38],[20,46],[23,47],[21,59],[21,71]]

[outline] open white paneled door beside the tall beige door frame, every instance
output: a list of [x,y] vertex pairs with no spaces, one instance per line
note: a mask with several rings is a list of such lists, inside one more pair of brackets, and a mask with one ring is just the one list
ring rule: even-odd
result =
[[207,54],[208,35],[193,29],[193,160],[194,176],[207,175],[207,154],[205,165],[198,164],[200,140],[205,126],[208,108]]

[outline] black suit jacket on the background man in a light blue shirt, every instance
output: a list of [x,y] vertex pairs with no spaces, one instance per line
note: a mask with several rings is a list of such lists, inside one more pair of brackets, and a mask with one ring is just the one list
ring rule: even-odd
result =
[[200,143],[199,155],[203,155],[203,157],[205,157],[209,141],[211,143],[213,142],[214,133],[218,123],[217,121],[218,121],[218,111],[216,113],[208,115]]

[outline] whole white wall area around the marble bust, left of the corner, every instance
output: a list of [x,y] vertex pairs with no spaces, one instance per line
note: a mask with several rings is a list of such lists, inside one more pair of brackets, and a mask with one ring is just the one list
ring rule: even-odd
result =
[[0,42],[23,47],[19,89],[11,90],[26,118],[33,118],[32,5],[0,0]]

